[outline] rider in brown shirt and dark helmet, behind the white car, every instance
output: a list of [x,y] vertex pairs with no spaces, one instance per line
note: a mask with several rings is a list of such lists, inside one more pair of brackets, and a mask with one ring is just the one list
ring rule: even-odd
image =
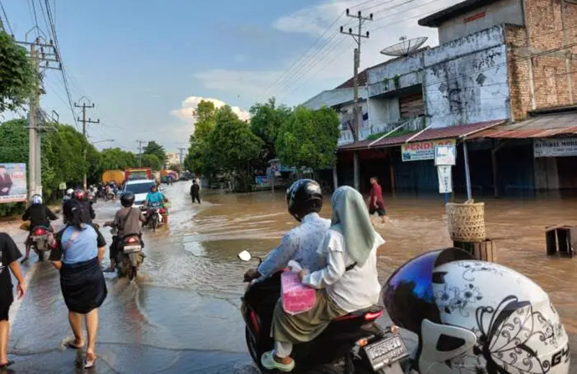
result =
[[120,197],[122,208],[116,212],[113,221],[104,223],[104,226],[110,226],[117,229],[116,235],[112,237],[112,243],[110,246],[111,266],[106,270],[107,272],[114,272],[116,257],[118,254],[118,243],[120,243],[125,236],[137,234],[140,238],[140,245],[144,247],[142,233],[140,232],[140,222],[145,222],[146,219],[140,209],[132,207],[134,204],[134,198],[134,193],[131,191],[123,193]]

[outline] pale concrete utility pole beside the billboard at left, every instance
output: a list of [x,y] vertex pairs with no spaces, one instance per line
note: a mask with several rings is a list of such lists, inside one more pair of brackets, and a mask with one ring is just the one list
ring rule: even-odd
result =
[[[24,42],[17,42],[26,47],[30,47],[30,58],[32,60],[35,73],[42,77],[40,70],[61,70],[62,65],[58,59],[58,53],[56,47],[54,47],[53,42],[44,42],[43,38],[37,37],[32,42],[28,41],[28,35],[36,28],[31,29],[26,33],[26,38]],[[42,62],[42,65],[40,63]],[[51,65],[51,63],[57,63],[56,66]],[[38,117],[40,113],[40,95],[44,93],[42,90],[42,78],[38,81],[36,90],[32,97],[30,98],[30,109],[29,109],[29,162],[28,162],[28,195],[38,194],[42,195],[42,139],[40,138],[40,132],[42,131],[42,123],[38,122]]]

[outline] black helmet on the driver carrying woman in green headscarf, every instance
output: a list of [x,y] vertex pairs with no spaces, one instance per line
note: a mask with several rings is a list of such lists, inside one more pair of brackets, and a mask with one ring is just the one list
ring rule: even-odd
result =
[[286,190],[286,204],[289,213],[298,221],[309,213],[318,213],[323,207],[323,191],[312,179],[299,179]]

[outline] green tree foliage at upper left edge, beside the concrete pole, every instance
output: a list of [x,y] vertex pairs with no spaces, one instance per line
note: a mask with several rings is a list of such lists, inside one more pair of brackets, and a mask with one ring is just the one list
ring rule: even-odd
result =
[[0,82],[0,113],[22,107],[38,87],[26,49],[5,31],[0,31]]

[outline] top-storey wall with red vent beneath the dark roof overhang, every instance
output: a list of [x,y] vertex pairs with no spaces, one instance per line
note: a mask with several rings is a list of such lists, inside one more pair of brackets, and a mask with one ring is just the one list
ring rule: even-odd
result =
[[[485,15],[481,17],[483,12],[485,12]],[[521,0],[498,1],[444,22],[439,27],[439,43],[451,42],[465,35],[489,29],[499,24],[523,26]]]

